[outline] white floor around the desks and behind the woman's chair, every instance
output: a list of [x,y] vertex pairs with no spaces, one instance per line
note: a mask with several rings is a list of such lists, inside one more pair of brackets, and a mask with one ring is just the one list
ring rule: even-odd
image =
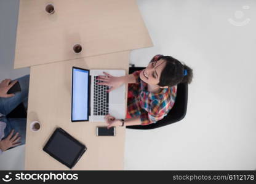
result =
[[[137,0],[154,47],[132,51],[146,66],[156,54],[194,69],[188,112],[173,125],[127,129],[125,169],[256,169],[256,1]],[[0,80],[12,69],[18,0],[0,1]],[[23,169],[24,147],[0,156],[0,169]]]

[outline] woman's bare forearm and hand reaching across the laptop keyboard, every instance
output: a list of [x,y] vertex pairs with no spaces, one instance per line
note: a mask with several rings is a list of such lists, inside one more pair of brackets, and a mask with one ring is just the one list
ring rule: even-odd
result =
[[106,85],[106,86],[110,86],[110,90],[109,91],[113,91],[116,88],[119,88],[119,86],[121,86],[122,84],[126,84],[126,83],[137,83],[137,77],[138,75],[135,74],[129,74],[129,75],[124,75],[121,77],[114,77],[113,75],[110,75],[106,72],[103,72],[105,75],[100,75],[98,76],[98,80],[100,80],[101,82],[98,83],[98,85]]

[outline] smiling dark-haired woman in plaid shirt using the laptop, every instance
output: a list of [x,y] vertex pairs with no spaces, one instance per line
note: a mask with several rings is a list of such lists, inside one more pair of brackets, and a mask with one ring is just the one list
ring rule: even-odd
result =
[[148,125],[164,118],[172,109],[177,84],[191,83],[193,71],[171,56],[156,55],[142,71],[122,77],[104,73],[99,76],[98,85],[108,85],[112,91],[124,83],[128,85],[127,115],[125,120],[118,120],[106,115],[108,128],[111,126]]

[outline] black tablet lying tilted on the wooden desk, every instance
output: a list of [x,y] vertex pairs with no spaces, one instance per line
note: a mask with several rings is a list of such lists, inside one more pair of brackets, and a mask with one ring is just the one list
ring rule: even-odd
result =
[[56,129],[44,147],[44,151],[68,167],[73,166],[84,149],[84,145],[60,128]]

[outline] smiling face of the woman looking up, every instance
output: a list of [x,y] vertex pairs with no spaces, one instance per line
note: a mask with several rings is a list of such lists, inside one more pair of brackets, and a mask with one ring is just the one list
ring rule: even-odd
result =
[[140,79],[149,85],[157,85],[165,66],[166,61],[164,59],[159,59],[158,61],[149,63],[148,66],[140,72]]

